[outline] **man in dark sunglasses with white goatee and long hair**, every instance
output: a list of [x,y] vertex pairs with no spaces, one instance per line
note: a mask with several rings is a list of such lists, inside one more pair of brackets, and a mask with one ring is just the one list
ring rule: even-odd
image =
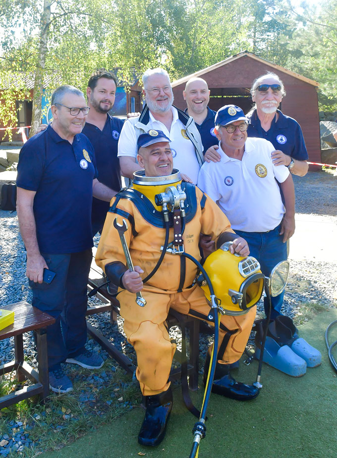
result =
[[[274,165],[285,165],[292,175],[304,177],[308,172],[308,152],[300,125],[283,115],[278,107],[285,96],[284,85],[278,75],[268,72],[256,78],[250,89],[255,105],[246,115],[248,137],[269,140],[276,151],[272,153]],[[219,162],[218,146],[205,154],[206,162]]]

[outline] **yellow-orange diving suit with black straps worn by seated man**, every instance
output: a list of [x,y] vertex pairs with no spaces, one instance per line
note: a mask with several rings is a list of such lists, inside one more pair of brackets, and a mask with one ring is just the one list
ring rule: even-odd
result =
[[[116,217],[120,224],[123,218],[128,221],[128,229],[124,233],[126,243],[133,264],[144,270],[142,278],[145,278],[156,266],[165,240],[162,207],[156,205],[154,196],[162,193],[168,184],[174,183],[174,180],[175,185],[181,183],[179,173],[169,177],[172,177],[171,183],[167,181],[168,177],[155,177],[155,183],[136,183],[134,180],[133,189],[122,190],[112,198],[96,262],[103,270],[108,264],[109,271],[116,270],[118,286],[122,286],[120,279],[127,268],[113,221]],[[165,179],[165,183],[158,181],[159,178]],[[211,235],[212,240],[217,243],[221,234],[234,232],[225,214],[211,198],[189,183],[182,182],[181,187],[186,193],[184,250],[200,261],[200,233]],[[172,217],[169,224],[169,240],[172,240]],[[196,273],[197,267],[189,259],[166,253],[159,269],[143,286],[142,295],[147,302],[144,307],[136,304],[134,293],[122,290],[118,295],[120,315],[124,319],[124,332],[137,354],[136,377],[145,396],[165,392],[170,385],[169,372],[176,345],[170,341],[165,326],[169,309],[192,315],[200,320],[208,320],[210,306],[206,302],[204,292],[197,284],[191,286]],[[241,357],[255,314],[256,306],[244,315],[222,316],[219,363],[233,363]]]

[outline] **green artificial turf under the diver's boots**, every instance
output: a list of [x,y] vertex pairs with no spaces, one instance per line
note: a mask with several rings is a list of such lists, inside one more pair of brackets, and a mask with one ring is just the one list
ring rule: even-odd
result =
[[[337,310],[320,313],[300,327],[300,334],[323,355],[323,364],[308,369],[304,377],[289,377],[263,365],[260,395],[239,402],[212,394],[206,422],[206,438],[199,458],[336,458],[337,457],[337,373],[328,359],[324,333],[337,320]],[[337,327],[331,341],[337,339]],[[336,352],[335,352],[336,354]],[[255,380],[257,362],[240,364],[233,376],[242,382]],[[136,408],[122,417],[42,458],[188,458],[192,427],[196,419],[184,407],[180,387],[174,389],[174,405],[167,435],[155,449],[141,447],[137,434],[144,410]],[[201,405],[203,389],[192,393]]]

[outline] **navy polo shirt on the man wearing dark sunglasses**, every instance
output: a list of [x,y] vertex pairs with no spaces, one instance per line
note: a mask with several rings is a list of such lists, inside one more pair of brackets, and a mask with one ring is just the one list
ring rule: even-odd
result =
[[248,136],[266,138],[273,143],[275,149],[280,149],[284,154],[299,161],[306,161],[308,152],[300,125],[289,116],[283,115],[280,110],[277,112],[279,113],[278,121],[276,122],[275,116],[271,128],[266,132],[261,127],[255,109],[251,116],[247,116],[249,119]]

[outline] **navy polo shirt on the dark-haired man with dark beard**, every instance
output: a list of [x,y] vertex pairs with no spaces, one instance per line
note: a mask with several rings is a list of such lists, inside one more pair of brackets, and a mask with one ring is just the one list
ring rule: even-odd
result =
[[[114,191],[119,191],[121,188],[117,145],[123,124],[123,120],[108,114],[103,131],[90,123],[86,123],[82,131],[89,138],[95,150],[98,180]],[[93,228],[103,227],[109,206],[109,202],[93,198],[91,213]]]

